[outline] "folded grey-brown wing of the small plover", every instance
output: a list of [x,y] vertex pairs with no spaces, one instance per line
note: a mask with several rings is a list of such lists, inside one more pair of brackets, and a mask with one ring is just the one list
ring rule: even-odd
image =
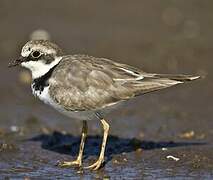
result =
[[85,55],[64,57],[52,77],[52,97],[66,109],[76,111],[103,108],[180,83],[125,64]]

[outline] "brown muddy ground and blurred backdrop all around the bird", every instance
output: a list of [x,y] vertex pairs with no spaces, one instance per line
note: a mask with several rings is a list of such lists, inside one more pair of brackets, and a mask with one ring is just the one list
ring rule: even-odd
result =
[[[0,179],[213,179],[212,0],[0,0],[0,27]],[[100,171],[62,169],[57,161],[77,154],[81,122],[36,100],[26,71],[7,68],[36,29],[70,54],[205,78],[109,114]],[[96,160],[101,133],[89,122],[84,165]]]

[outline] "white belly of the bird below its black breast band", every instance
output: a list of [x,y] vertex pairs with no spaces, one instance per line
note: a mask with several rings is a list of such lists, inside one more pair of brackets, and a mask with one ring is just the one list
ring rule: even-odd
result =
[[95,120],[97,117],[95,116],[94,111],[69,111],[63,108],[63,106],[57,104],[54,102],[54,100],[49,95],[49,86],[44,87],[43,91],[36,91],[32,87],[32,93],[34,96],[38,97],[41,101],[43,101],[45,104],[50,105],[60,113],[77,119],[77,120]]

